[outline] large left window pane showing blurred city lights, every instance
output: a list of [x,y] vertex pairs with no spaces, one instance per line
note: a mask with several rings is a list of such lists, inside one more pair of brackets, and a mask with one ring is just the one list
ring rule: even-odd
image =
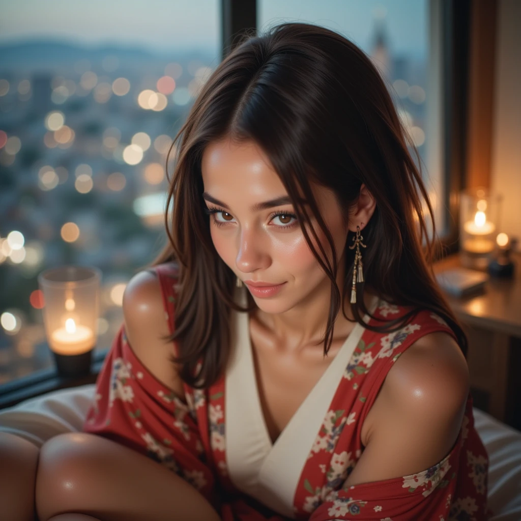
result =
[[[166,151],[220,60],[218,0],[5,5],[0,34],[0,383],[53,365],[38,274],[102,270],[96,349],[166,236]],[[93,211],[94,210],[94,211]]]

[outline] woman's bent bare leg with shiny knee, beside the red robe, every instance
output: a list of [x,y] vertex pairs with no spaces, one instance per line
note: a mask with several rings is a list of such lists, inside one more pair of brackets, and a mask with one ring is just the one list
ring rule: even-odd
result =
[[165,466],[85,432],[42,446],[36,510],[40,521],[67,512],[103,521],[220,521],[206,498]]

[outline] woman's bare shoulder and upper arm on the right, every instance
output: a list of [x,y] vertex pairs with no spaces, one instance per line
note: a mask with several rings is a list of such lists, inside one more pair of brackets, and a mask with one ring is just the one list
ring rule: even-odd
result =
[[450,453],[469,391],[463,353],[447,333],[418,339],[393,363],[364,429],[348,485],[417,474]]

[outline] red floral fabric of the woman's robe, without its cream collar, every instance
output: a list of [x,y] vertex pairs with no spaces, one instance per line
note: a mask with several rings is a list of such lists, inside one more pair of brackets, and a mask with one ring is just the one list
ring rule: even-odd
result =
[[[173,330],[177,270],[169,264],[155,269],[165,318]],[[394,319],[405,312],[381,301],[375,317]],[[295,519],[487,518],[488,458],[474,428],[470,395],[458,439],[438,464],[410,476],[345,486],[363,453],[361,426],[388,371],[418,338],[435,331],[453,334],[443,319],[426,311],[392,333],[365,329],[309,448],[289,505]],[[224,376],[209,389],[185,385],[184,391],[184,396],[177,396],[157,381],[135,357],[121,328],[98,376],[84,430],[126,444],[167,466],[212,501],[223,521],[287,521],[242,494],[230,480]]]

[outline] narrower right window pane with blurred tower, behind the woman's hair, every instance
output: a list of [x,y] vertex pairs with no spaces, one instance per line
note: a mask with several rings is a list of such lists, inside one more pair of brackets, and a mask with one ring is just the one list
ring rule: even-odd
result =
[[435,33],[440,23],[439,18],[430,23],[430,4],[429,0],[258,0],[257,26],[262,30],[286,21],[316,23],[343,34],[373,60],[418,150],[437,233],[443,234],[441,62]]

